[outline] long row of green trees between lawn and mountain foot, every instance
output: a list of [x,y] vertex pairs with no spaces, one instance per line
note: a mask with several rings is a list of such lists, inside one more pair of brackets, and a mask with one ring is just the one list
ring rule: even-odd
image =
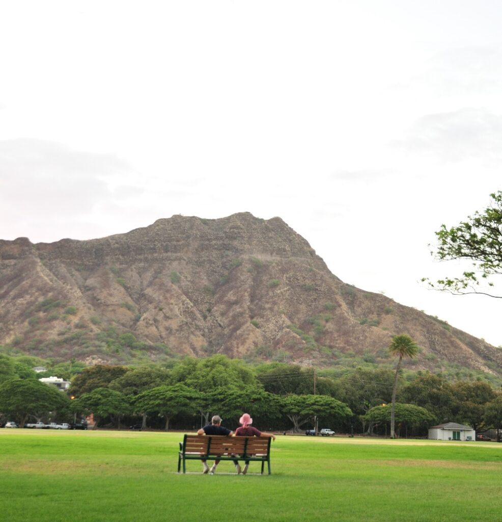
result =
[[[332,379],[313,369],[250,366],[224,355],[186,358],[171,368],[97,365],[72,377],[75,399],[70,400],[39,383],[26,361],[0,356],[0,412],[4,420],[21,423],[65,421],[93,412],[102,424],[141,419],[145,427],[193,429],[214,413],[235,427],[240,414],[249,411],[264,429],[311,428],[317,418],[322,427],[338,432],[372,434],[391,433],[395,395],[399,435],[425,435],[427,426],[448,421],[478,431],[502,427],[502,400],[487,383],[449,383],[429,373],[403,382],[397,370],[357,369]],[[47,389],[52,395],[46,397],[41,390]]]

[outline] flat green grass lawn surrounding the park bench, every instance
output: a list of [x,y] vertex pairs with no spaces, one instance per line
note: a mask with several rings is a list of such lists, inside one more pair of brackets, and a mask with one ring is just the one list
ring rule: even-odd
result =
[[[278,436],[272,475],[178,474],[177,433],[0,430],[6,522],[502,521],[502,444]],[[266,466],[265,466],[266,468]]]

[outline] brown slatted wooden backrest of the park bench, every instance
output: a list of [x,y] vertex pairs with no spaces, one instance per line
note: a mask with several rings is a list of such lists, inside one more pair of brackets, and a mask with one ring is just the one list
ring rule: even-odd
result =
[[268,437],[226,437],[224,435],[185,435],[183,454],[188,455],[223,455],[235,453],[247,455],[268,455],[270,438]]

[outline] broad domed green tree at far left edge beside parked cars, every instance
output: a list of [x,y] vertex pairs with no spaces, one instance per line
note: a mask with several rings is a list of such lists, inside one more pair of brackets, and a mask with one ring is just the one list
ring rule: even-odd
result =
[[21,428],[30,415],[40,420],[67,408],[69,399],[64,393],[36,379],[11,379],[0,386],[0,411],[13,416]]

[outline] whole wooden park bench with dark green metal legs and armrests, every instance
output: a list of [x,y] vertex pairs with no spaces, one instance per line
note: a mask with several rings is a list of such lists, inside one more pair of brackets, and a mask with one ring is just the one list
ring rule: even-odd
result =
[[270,475],[270,441],[268,437],[227,437],[224,435],[185,435],[179,443],[178,473],[187,460],[251,460],[265,462]]

